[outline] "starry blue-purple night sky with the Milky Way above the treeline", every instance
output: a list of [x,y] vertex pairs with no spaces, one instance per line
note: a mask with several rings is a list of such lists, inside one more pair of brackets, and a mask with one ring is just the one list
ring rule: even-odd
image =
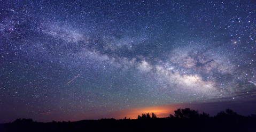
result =
[[256,1],[0,1],[0,123],[256,111]]

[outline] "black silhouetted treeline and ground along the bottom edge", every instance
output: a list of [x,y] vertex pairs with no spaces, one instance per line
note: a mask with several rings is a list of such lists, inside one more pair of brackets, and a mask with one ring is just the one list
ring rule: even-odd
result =
[[210,117],[189,108],[177,109],[174,115],[157,118],[156,114],[143,113],[137,119],[81,120],[48,123],[32,119],[17,119],[0,124],[0,131],[256,131],[256,115],[241,116],[227,109]]

